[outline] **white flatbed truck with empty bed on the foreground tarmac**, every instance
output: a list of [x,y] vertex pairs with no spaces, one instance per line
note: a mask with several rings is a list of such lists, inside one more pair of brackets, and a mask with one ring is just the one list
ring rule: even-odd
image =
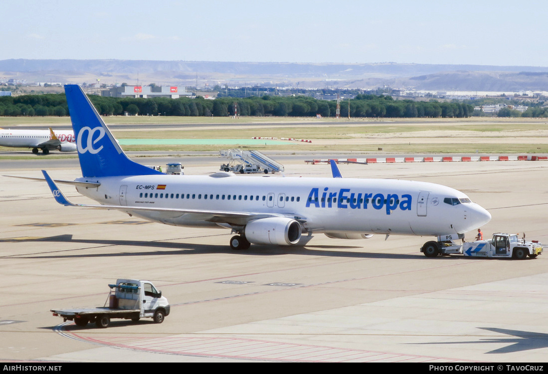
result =
[[[152,318],[157,324],[169,315],[170,306],[162,292],[150,281],[136,279],[118,279],[115,285],[109,285],[110,292],[103,307],[52,309],[54,316],[64,321],[74,321],[77,326],[86,326],[95,322],[95,326],[109,327],[112,318],[130,319],[133,322],[140,318]],[[106,304],[109,303],[107,307]]]

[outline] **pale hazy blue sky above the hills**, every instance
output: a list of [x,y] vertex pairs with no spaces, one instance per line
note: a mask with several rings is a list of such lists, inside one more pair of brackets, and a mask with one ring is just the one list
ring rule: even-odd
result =
[[548,66],[548,2],[1,0],[3,59]]

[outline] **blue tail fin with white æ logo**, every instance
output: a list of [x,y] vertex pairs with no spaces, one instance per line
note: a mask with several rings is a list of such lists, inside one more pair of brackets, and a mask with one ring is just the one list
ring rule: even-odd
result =
[[129,160],[80,86],[67,84],[65,94],[83,177],[161,174]]

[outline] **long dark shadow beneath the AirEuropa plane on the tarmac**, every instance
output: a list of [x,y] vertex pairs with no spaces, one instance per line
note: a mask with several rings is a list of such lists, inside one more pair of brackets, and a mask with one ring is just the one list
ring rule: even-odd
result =
[[[417,259],[424,258],[420,253],[417,254],[397,254],[397,253],[372,253],[363,252],[364,247],[360,246],[305,246],[305,247],[286,247],[286,246],[263,246],[253,245],[248,250],[231,250],[231,248],[219,245],[167,242],[167,241],[139,241],[139,240],[103,240],[103,239],[73,239],[72,235],[58,235],[43,237],[39,239],[23,240],[25,242],[59,242],[59,243],[82,243],[99,246],[130,246],[130,247],[149,247],[155,248],[149,252],[111,252],[111,253],[87,253],[87,254],[60,254],[60,252],[71,252],[84,249],[95,249],[105,251],[107,248],[75,248],[72,250],[41,251],[27,254],[14,254],[2,256],[3,258],[92,258],[92,257],[124,257],[124,256],[158,256],[158,254],[199,254],[199,253],[231,253],[251,256],[278,256],[283,254],[302,254],[307,256],[326,256],[326,257],[349,257],[349,258],[395,258],[395,259]],[[340,249],[348,249],[340,251]],[[349,251],[356,250],[355,252]],[[35,255],[35,256],[32,256]],[[425,258],[426,259],[426,258]]]

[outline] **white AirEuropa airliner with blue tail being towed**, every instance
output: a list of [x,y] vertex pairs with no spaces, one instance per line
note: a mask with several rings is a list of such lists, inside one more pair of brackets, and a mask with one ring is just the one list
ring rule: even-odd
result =
[[[313,234],[453,235],[489,222],[486,209],[447,186],[407,180],[167,175],[129,160],[77,85],[65,86],[82,178],[44,177],[59,203],[118,209],[158,223],[232,230],[234,249],[304,245]],[[31,178],[33,179],[33,178]],[[55,182],[76,186],[99,205],[75,204]]]

